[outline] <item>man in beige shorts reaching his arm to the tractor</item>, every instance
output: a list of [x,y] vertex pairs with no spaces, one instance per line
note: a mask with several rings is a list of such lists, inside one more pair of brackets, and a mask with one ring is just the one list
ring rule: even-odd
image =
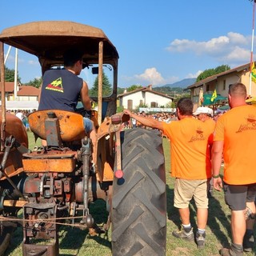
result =
[[175,230],[176,238],[194,241],[190,225],[189,203],[192,198],[197,206],[198,230],[196,242],[198,248],[205,246],[206,222],[208,218],[207,186],[211,177],[210,147],[213,129],[193,118],[193,102],[190,98],[181,98],[177,103],[178,121],[161,122],[154,118],[143,118],[124,110],[131,118],[145,126],[162,130],[170,139],[171,174],[176,178],[174,186],[174,206],[178,208],[182,219],[182,229]]

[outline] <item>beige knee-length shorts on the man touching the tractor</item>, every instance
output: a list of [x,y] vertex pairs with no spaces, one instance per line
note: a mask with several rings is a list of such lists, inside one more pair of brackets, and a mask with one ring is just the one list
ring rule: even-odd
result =
[[208,208],[207,190],[210,180],[188,180],[176,178],[174,185],[174,206],[187,208],[194,197],[197,208]]

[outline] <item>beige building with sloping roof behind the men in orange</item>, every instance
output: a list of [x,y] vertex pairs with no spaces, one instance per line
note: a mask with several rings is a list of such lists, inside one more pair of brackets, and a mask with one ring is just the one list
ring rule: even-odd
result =
[[[195,82],[193,85],[188,86],[186,90],[190,90],[191,99],[194,104],[199,103],[201,89],[203,90],[204,98],[209,98],[209,95],[212,95],[214,90],[216,90],[219,100],[215,100],[213,103],[215,105],[223,105],[226,103],[229,85],[234,82],[242,82],[246,86],[247,94],[256,96],[256,84],[254,82],[250,83],[250,63],[235,67],[231,70],[226,70],[219,74],[214,74],[199,82]],[[206,99],[205,104],[202,102],[202,106],[204,105],[210,105],[210,101]]]

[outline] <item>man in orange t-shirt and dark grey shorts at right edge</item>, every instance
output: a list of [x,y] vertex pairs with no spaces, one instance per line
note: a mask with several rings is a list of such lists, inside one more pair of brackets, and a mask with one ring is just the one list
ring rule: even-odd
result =
[[246,230],[245,213],[250,222],[255,214],[256,108],[246,105],[246,86],[242,83],[230,85],[228,98],[231,110],[218,118],[214,132],[213,178],[214,188],[221,190],[219,170],[223,152],[223,181],[226,203],[231,210],[232,243],[229,249],[222,248],[221,254],[242,255],[243,250],[250,251],[253,247],[250,240],[253,234],[252,230],[250,233]]

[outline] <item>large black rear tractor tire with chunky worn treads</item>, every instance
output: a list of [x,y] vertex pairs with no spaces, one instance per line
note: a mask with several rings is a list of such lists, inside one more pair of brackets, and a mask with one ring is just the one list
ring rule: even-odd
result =
[[112,254],[166,255],[166,173],[157,130],[121,133],[122,178],[114,178]]

